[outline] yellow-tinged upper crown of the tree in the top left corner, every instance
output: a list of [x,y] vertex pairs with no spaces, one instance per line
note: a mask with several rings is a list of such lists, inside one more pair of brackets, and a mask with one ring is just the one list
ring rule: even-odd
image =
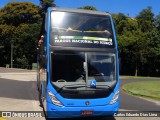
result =
[[0,11],[0,24],[18,26],[21,23],[39,23],[39,12],[39,7],[30,2],[10,2]]

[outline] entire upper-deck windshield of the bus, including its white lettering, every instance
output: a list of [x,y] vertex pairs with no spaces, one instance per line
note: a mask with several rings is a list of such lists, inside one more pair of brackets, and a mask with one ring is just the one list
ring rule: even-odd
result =
[[51,44],[71,47],[114,47],[109,15],[51,12]]

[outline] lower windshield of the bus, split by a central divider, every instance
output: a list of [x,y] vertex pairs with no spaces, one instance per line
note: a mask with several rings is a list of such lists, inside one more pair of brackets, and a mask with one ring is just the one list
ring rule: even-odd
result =
[[55,52],[51,55],[52,82],[63,85],[86,85],[95,80],[97,86],[112,87],[116,83],[114,53]]

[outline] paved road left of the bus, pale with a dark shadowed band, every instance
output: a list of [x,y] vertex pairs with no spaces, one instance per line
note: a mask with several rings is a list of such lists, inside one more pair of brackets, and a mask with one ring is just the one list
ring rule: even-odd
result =
[[[0,68],[0,111],[42,111],[39,107],[35,80],[35,71]],[[45,120],[44,117],[23,119]],[[22,118],[4,118],[4,120],[22,120]]]

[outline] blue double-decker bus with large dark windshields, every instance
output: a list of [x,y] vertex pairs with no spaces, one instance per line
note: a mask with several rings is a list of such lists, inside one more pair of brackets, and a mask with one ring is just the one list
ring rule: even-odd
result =
[[117,113],[119,60],[111,15],[51,7],[42,25],[37,86],[46,116]]

